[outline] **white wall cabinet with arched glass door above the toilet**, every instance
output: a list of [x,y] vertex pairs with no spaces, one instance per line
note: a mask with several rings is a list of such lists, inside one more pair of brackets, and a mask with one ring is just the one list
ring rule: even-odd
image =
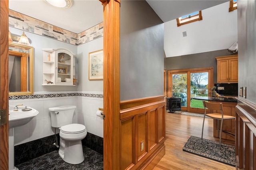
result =
[[75,57],[68,49],[43,50],[43,84],[75,85]]

